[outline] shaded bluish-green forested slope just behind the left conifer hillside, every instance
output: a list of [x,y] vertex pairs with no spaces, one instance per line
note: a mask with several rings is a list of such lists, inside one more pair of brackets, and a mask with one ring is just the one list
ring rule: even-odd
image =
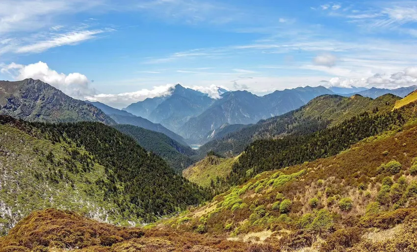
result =
[[115,125],[114,128],[132,137],[147,151],[152,151],[165,159],[178,173],[195,162],[190,158],[195,155],[195,150],[165,134],[125,124]]

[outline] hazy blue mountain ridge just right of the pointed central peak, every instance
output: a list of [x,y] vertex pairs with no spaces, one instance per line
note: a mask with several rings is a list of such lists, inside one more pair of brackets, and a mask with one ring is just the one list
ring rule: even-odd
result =
[[323,87],[297,87],[275,91],[262,97],[248,91],[233,91],[221,95],[202,114],[190,118],[178,132],[190,143],[205,143],[208,132],[228,124],[251,124],[260,119],[280,115],[305,105],[313,98],[333,94]]

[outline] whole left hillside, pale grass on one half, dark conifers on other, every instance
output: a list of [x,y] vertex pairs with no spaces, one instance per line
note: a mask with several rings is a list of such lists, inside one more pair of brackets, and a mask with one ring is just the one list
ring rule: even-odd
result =
[[0,229],[36,209],[149,222],[207,194],[135,140],[99,122],[45,124],[0,116]]

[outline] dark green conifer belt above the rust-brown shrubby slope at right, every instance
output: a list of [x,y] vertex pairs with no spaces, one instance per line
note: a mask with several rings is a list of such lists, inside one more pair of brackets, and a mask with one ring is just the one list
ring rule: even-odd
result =
[[[303,134],[278,140],[256,140],[250,144],[232,168],[232,184],[246,181],[262,171],[284,168],[338,154],[353,143],[367,137],[400,128],[407,121],[402,112],[384,114],[367,112],[354,116],[337,126],[313,132],[316,125],[303,124]],[[305,132],[313,132],[305,134]]]

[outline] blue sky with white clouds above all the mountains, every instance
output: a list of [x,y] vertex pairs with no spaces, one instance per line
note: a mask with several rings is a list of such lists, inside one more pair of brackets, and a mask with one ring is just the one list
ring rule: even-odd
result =
[[0,0],[0,79],[123,108],[182,84],[417,84],[417,1]]

